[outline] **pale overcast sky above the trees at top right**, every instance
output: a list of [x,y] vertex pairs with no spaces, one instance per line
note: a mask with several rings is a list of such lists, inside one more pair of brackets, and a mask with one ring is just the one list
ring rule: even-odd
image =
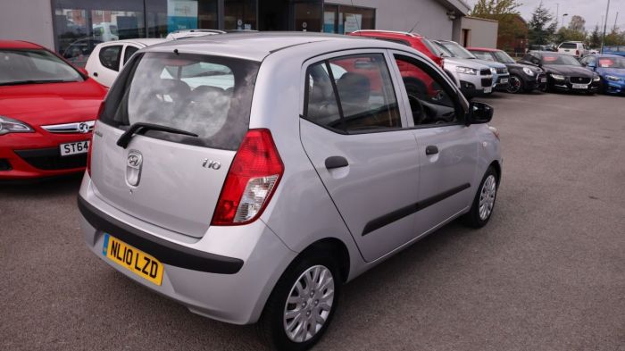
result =
[[[467,3],[473,7],[477,0],[467,0]],[[531,19],[531,13],[534,12],[540,0],[517,0],[517,3],[522,4],[519,8],[521,16],[524,19]],[[560,4],[560,14],[558,22],[562,25],[562,14],[569,13],[569,16],[564,17],[564,23],[566,25],[571,21],[571,17],[575,14],[581,16],[586,20],[586,29],[592,30],[596,24],[602,23],[602,18],[605,16],[605,6],[608,4],[608,0],[543,0],[543,5],[555,15],[557,11],[557,4]],[[618,26],[621,29],[625,29],[625,0],[611,0],[610,1],[610,13],[608,13],[608,30],[614,25],[616,20],[616,13],[619,13]],[[603,29],[603,25],[600,24]]]

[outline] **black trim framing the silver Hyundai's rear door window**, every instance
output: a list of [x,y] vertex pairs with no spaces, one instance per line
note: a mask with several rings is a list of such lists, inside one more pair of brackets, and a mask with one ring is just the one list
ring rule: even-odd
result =
[[[362,48],[362,49],[367,49],[367,48]],[[387,53],[387,48],[375,48],[376,50],[384,50]],[[356,49],[356,50],[361,50],[361,49]],[[337,99],[337,107],[339,108],[339,118],[341,120],[341,123],[344,123],[345,120],[345,116],[343,115],[343,109],[340,105],[340,99],[338,98],[338,92],[337,92],[337,87],[336,87],[336,82],[334,81],[334,74],[332,73],[331,67],[329,66],[329,62],[330,60],[336,60],[339,59],[341,57],[350,57],[350,56],[356,56],[356,55],[367,55],[367,54],[379,54],[384,58],[384,62],[387,63],[387,71],[388,71],[388,78],[391,79],[391,82],[393,83],[393,93],[395,94],[395,98],[396,98],[396,105],[397,105],[397,110],[399,110],[399,120],[402,124],[404,124],[404,116],[401,113],[401,109],[399,108],[399,100],[398,100],[398,96],[397,96],[397,91],[395,88],[395,81],[392,77],[392,73],[391,73],[391,68],[388,66],[388,62],[387,62],[387,55],[385,52],[380,52],[380,53],[354,53],[354,54],[340,54],[338,56],[332,56],[332,57],[328,57],[325,59],[322,59],[320,61],[308,61],[306,63],[304,63],[304,65],[307,64],[306,66],[306,72],[305,72],[305,82],[304,82],[304,110],[302,113],[300,113],[299,117],[301,119],[303,119],[304,121],[308,121],[316,126],[319,126],[325,130],[329,130],[333,133],[336,134],[340,134],[340,135],[361,135],[361,134],[373,134],[373,133],[386,133],[386,132],[392,132],[392,131],[402,131],[402,130],[410,130],[410,128],[408,126],[404,126],[402,125],[401,127],[391,127],[391,128],[385,128],[385,129],[371,129],[371,130],[356,130],[356,131],[347,131],[347,130],[337,130],[336,128],[332,128],[328,125],[323,125],[314,121],[311,121],[310,119],[308,119],[308,116],[306,116],[305,113],[308,112],[308,96],[309,96],[309,88],[310,88],[310,70],[313,66],[317,65],[317,64],[326,64],[326,70],[328,70],[329,72],[329,79],[331,81],[332,84],[332,91],[333,94],[335,96],[335,99]],[[324,56],[326,54],[336,54],[336,53],[341,53],[341,51],[332,51],[329,53],[325,53],[325,54],[319,54],[317,56]],[[407,121],[407,120],[405,120]]]

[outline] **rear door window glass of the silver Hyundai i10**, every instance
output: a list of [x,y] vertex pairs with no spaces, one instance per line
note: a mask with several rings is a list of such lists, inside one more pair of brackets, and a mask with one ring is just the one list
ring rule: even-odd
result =
[[308,68],[305,118],[358,133],[402,128],[383,54],[342,56]]

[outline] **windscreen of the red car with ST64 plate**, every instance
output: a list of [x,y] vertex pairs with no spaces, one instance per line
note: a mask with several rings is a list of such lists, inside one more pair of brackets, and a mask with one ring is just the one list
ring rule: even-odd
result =
[[76,69],[46,50],[0,50],[0,85],[82,80],[82,76]]

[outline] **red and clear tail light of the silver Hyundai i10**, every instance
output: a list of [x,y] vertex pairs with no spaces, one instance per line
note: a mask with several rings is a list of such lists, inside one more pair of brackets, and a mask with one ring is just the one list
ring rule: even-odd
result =
[[278,187],[284,164],[269,130],[248,130],[221,189],[211,225],[255,221]]

